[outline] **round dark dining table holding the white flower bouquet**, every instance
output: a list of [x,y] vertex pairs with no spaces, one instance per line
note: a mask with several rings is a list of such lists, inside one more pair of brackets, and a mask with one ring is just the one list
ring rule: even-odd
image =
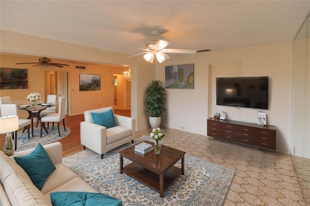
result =
[[[40,113],[41,111],[47,109],[47,108],[50,108],[50,107],[54,107],[55,105],[47,105],[47,106],[43,106],[41,104],[37,104],[37,105],[34,105],[34,106],[29,106],[29,107],[25,107],[25,106],[18,106],[17,108],[18,109],[21,109],[21,110],[25,110],[28,112],[29,116],[27,119],[31,119],[31,135],[32,137],[34,136],[33,135],[33,118],[37,118],[37,121],[40,121],[41,122],[41,117],[40,117]],[[45,132],[47,132],[47,128],[45,126],[45,124],[43,124],[43,129],[45,130]],[[23,132],[26,130],[26,128],[24,128]],[[48,132],[47,132],[48,133]]]

